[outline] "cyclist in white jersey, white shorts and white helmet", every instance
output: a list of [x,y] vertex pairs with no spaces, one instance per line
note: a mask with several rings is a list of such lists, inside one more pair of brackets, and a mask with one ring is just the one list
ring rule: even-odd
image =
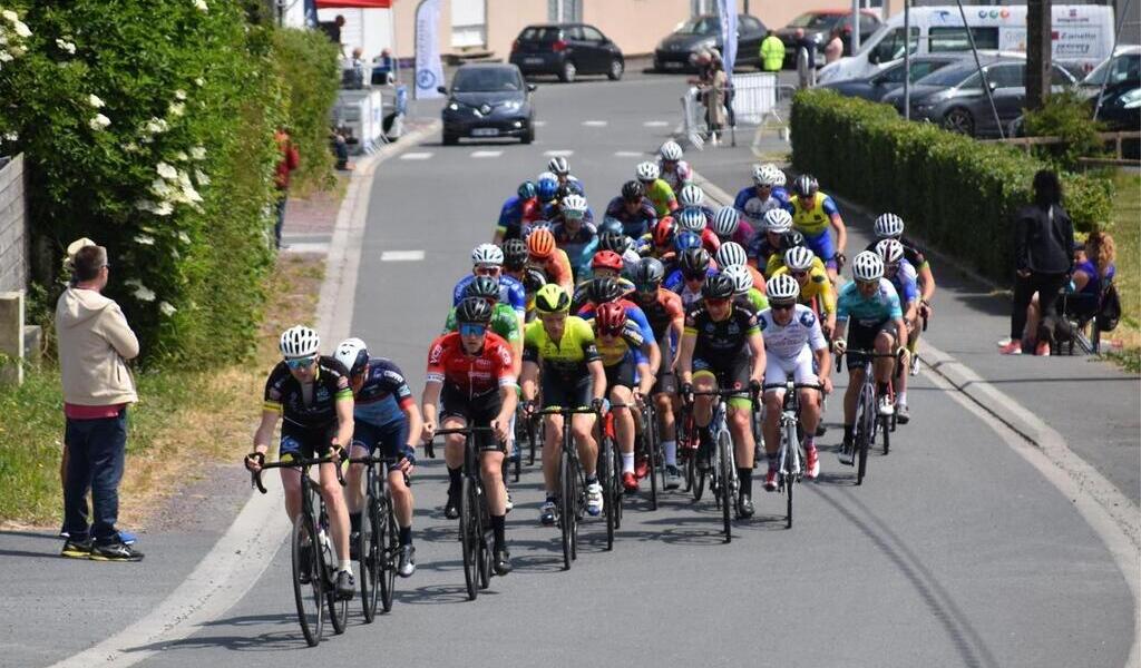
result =
[[[776,276],[769,283],[769,308],[756,316],[767,352],[764,368],[764,453],[769,472],[764,489],[777,489],[780,412],[784,407],[785,381],[792,374],[796,384],[823,385],[832,391],[832,356],[820,332],[820,320],[812,309],[796,303],[800,284],[791,276]],[[819,369],[817,372],[814,368]],[[771,388],[771,385],[780,385]],[[802,388],[800,423],[804,427],[804,475],[815,480],[820,473],[820,456],[816,451],[816,427],[820,424],[820,392]]]

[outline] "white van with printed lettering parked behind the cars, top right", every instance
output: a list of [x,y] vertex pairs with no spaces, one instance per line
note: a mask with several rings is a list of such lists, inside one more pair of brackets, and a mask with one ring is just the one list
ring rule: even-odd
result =
[[[974,46],[987,51],[1026,51],[1026,5],[966,6]],[[914,7],[911,11],[913,55],[969,51],[963,17],[954,5]],[[1114,8],[1100,5],[1053,6],[1053,59],[1089,72],[1114,48]],[[820,83],[872,76],[904,57],[904,13],[892,16],[860,50],[825,65]]]

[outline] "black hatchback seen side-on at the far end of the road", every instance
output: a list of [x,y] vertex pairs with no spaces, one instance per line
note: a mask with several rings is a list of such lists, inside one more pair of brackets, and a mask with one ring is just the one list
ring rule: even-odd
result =
[[618,46],[584,23],[528,25],[511,44],[510,62],[527,76],[555,74],[568,83],[581,74],[617,81],[626,68]]

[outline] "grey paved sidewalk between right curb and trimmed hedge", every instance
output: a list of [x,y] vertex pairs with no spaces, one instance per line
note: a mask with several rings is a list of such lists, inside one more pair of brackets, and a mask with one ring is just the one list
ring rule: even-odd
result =
[[[787,119],[786,115],[783,117]],[[687,149],[686,160],[730,197],[750,185],[756,162],[752,133],[737,133],[737,147]],[[772,133],[760,150],[767,157],[791,152]],[[827,184],[822,185],[827,190]],[[706,193],[706,196],[710,194]],[[881,213],[864,211],[837,197],[848,225],[848,256],[872,239],[872,222]],[[720,202],[719,202],[720,204]],[[986,239],[979,239],[986,243]],[[1004,357],[996,342],[1010,327],[1010,298],[932,259],[938,291],[934,316],[924,339],[957,358],[986,383],[1018,401],[1057,430],[1066,445],[1104,475],[1134,504],[1141,503],[1141,377],[1093,357]],[[988,406],[998,412],[1002,406]],[[1000,418],[1002,416],[1000,415]],[[922,416],[916,422],[922,424]],[[1041,445],[1041,443],[1039,443]]]

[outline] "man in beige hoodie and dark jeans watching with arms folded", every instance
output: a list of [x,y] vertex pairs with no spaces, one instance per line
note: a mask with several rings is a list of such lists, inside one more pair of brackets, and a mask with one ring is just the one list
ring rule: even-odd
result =
[[75,253],[72,267],[75,283],[56,303],[64,440],[68,447],[64,492],[64,529],[68,538],[62,555],[139,561],[143,553],[123,543],[115,528],[127,451],[127,406],[138,401],[126,360],[138,356],[139,342],[119,304],[100,294],[111,271],[107,250],[83,246]]

